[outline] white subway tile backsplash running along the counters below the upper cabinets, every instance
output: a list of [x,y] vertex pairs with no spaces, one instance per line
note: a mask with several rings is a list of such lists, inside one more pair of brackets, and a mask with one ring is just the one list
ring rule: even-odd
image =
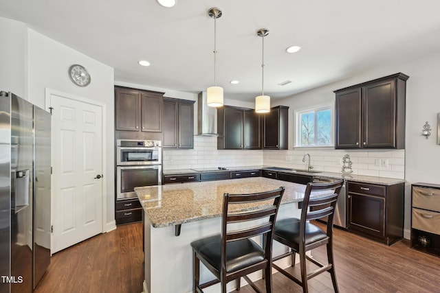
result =
[[217,137],[194,137],[193,150],[164,149],[163,167],[192,169],[206,167],[277,166],[307,168],[310,154],[314,170],[341,173],[342,158],[350,155],[355,175],[405,178],[405,150],[217,150]]

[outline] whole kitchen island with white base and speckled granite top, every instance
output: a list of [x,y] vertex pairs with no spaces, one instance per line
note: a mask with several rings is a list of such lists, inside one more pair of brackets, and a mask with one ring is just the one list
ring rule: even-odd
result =
[[[192,249],[190,242],[221,231],[223,194],[250,194],[285,187],[278,218],[300,217],[298,202],[304,197],[305,185],[270,178],[241,178],[173,185],[137,187],[135,191],[143,207],[145,293],[192,292]],[[244,206],[243,209],[252,209]],[[177,228],[181,225],[179,233]],[[176,236],[179,234],[178,236]],[[261,242],[260,239],[256,241]],[[273,253],[287,252],[274,242]],[[284,262],[283,262],[284,261]],[[278,262],[289,266],[289,258]],[[201,282],[213,279],[201,266]],[[261,272],[250,274],[260,279]],[[244,280],[242,284],[245,285]],[[229,290],[235,283],[228,284]],[[205,292],[219,292],[219,284]]]

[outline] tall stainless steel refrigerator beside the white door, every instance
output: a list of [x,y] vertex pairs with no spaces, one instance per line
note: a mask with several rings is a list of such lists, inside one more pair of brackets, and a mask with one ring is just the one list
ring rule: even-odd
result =
[[0,92],[0,293],[32,292],[50,263],[50,113]]

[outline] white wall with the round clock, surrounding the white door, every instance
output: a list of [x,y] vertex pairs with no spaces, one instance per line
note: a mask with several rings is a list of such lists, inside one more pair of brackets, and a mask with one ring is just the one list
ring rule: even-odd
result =
[[[73,64],[83,65],[91,75],[89,86],[76,86],[67,71]],[[45,89],[54,89],[69,95],[85,97],[106,104],[104,124],[107,126],[105,145],[108,145],[106,169],[103,170],[107,207],[107,227],[114,228],[114,94],[113,68],[102,64],[72,48],[28,30],[28,99],[45,109]]]

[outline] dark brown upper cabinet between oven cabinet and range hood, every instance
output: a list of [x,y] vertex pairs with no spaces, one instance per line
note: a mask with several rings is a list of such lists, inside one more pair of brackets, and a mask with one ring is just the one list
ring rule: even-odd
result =
[[194,103],[164,98],[163,148],[194,148]]

